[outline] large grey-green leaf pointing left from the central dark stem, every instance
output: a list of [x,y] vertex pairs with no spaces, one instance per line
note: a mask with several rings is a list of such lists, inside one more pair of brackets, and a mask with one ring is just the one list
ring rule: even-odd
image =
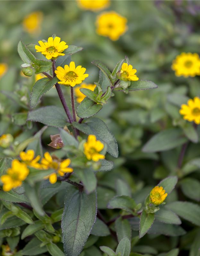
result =
[[27,120],[59,128],[63,128],[68,122],[64,110],[56,106],[47,106],[30,111]]

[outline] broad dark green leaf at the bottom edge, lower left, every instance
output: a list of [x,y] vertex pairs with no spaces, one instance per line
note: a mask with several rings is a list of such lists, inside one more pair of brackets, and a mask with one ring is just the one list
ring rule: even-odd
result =
[[32,256],[32,255],[41,255],[44,252],[47,252],[46,246],[40,247],[40,240],[38,238],[33,238],[30,240],[28,244],[22,250],[22,254],[24,256]]

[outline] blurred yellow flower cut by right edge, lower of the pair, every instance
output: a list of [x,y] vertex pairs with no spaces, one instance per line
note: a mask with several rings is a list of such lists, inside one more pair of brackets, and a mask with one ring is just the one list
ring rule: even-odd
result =
[[200,98],[195,97],[194,100],[188,100],[188,105],[182,104],[179,112],[185,120],[200,124]]

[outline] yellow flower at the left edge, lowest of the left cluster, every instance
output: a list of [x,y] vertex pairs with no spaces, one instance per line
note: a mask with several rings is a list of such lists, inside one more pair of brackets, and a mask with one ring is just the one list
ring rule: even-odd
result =
[[29,169],[25,163],[20,163],[19,160],[12,161],[12,168],[7,170],[7,174],[2,175],[0,180],[3,183],[3,190],[10,191],[22,185],[22,181],[26,179],[29,174]]

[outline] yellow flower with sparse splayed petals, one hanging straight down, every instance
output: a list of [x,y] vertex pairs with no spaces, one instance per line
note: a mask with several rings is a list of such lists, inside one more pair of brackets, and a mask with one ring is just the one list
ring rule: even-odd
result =
[[[57,160],[57,159],[56,159]],[[60,176],[64,176],[67,172],[73,172],[73,169],[68,167],[71,163],[70,159],[65,159],[64,161],[56,161],[53,160],[52,156],[49,152],[44,153],[44,158],[42,158],[41,164],[44,169],[54,169]],[[49,182],[51,184],[56,183],[57,181],[57,174],[56,172],[50,174],[46,178],[49,178]]]

